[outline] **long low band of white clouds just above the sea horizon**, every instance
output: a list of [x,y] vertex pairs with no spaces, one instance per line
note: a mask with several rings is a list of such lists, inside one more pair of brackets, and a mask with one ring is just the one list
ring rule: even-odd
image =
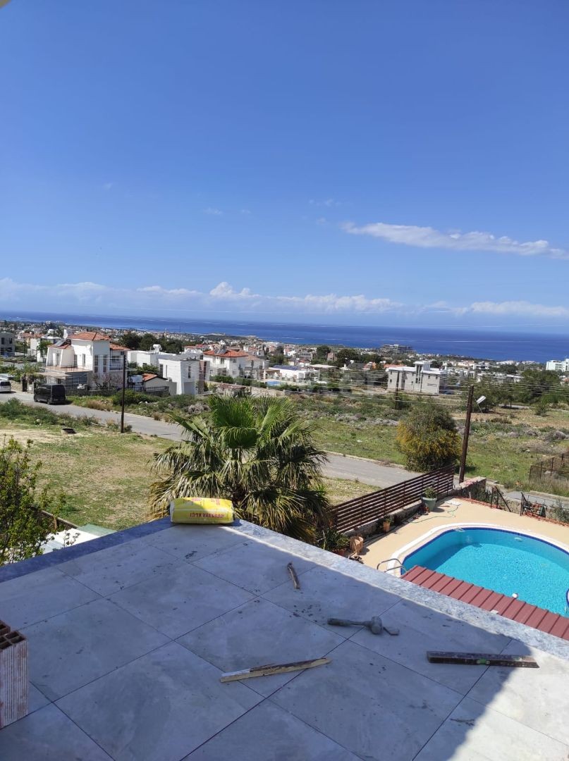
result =
[[454,305],[447,301],[431,304],[401,304],[383,296],[360,295],[263,295],[251,288],[236,290],[222,281],[210,291],[190,288],[165,288],[162,285],[145,285],[140,288],[117,288],[94,282],[37,285],[18,283],[10,278],[0,279],[0,304],[6,309],[14,307],[30,310],[53,308],[72,312],[73,307],[97,307],[100,314],[112,311],[125,314],[125,309],[146,310],[155,313],[229,311],[232,314],[321,314],[321,315],[374,315],[397,314],[405,318],[415,315],[448,314],[454,318],[500,315],[504,318],[540,317],[545,320],[569,320],[569,307],[533,304],[530,301],[475,301],[472,304]]

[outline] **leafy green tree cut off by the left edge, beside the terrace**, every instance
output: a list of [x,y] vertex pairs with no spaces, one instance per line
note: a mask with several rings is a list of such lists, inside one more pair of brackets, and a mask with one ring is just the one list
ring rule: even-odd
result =
[[38,470],[29,441],[23,447],[11,438],[0,448],[0,565],[41,555],[53,532],[53,521],[42,511],[57,514],[62,501],[47,489],[37,492]]

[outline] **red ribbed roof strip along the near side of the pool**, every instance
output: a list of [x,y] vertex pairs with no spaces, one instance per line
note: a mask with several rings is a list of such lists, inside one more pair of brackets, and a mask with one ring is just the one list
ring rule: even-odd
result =
[[539,629],[540,632],[569,640],[569,618],[524,603],[516,597],[508,597],[506,594],[469,584],[468,581],[460,581],[438,571],[430,571],[429,568],[423,568],[421,565],[415,565],[401,578],[433,592],[454,597],[455,600],[462,600],[463,603],[469,603],[481,610],[495,610],[500,616],[531,626],[532,629]]

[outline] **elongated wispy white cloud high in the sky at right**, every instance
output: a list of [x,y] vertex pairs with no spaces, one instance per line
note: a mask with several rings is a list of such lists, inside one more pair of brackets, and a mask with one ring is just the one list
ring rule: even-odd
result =
[[403,244],[417,248],[446,248],[454,251],[495,251],[516,253],[519,256],[549,256],[552,259],[569,259],[569,251],[552,247],[547,240],[519,240],[507,235],[497,237],[492,233],[462,233],[456,230],[441,232],[434,228],[420,228],[415,224],[387,224],[372,222],[358,227],[353,222],[344,222],[340,227],[352,235],[370,235],[387,240],[389,243]]

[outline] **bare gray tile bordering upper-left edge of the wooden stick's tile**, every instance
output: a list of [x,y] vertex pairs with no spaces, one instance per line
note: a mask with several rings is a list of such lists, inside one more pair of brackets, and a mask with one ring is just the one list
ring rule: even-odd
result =
[[157,573],[109,599],[174,639],[251,597],[234,584],[178,561],[168,573]]

